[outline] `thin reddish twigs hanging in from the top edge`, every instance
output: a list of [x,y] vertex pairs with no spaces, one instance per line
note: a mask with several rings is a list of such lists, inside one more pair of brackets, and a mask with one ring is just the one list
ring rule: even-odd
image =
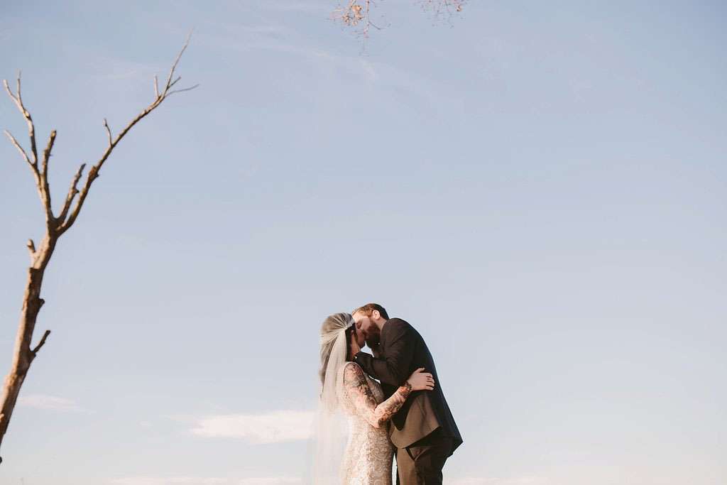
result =
[[[462,12],[467,0],[415,0],[425,12],[431,12],[435,21],[449,20],[451,15]],[[375,0],[345,0],[344,4],[332,12],[333,20],[339,21],[364,38],[369,36],[371,27],[381,30],[378,23],[371,20],[372,10],[377,6]]]

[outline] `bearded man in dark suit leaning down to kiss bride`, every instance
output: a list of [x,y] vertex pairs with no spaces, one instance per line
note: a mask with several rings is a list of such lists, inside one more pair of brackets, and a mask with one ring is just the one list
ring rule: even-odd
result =
[[359,351],[353,360],[381,381],[387,398],[419,367],[434,375],[434,390],[411,394],[391,420],[389,436],[397,449],[397,484],[441,484],[444,462],[462,444],[462,436],[444,399],[427,344],[413,326],[401,318],[389,318],[377,303],[355,310],[353,320],[374,353]]

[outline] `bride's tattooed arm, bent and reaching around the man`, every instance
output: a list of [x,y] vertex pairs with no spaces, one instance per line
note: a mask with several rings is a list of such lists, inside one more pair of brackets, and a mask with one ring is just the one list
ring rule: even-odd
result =
[[356,411],[374,428],[380,428],[401,409],[406,398],[411,394],[411,384],[404,384],[393,395],[381,404],[377,404],[374,394],[371,393],[366,374],[358,364],[346,364],[343,370],[343,386],[350,396]]

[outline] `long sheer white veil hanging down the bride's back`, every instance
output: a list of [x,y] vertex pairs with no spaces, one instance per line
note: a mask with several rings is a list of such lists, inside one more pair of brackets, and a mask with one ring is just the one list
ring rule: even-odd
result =
[[340,468],[348,441],[348,420],[339,397],[343,390],[342,369],[348,355],[346,329],[353,325],[348,313],[326,318],[321,329],[321,396],[318,400],[313,437],[313,483],[340,485]]

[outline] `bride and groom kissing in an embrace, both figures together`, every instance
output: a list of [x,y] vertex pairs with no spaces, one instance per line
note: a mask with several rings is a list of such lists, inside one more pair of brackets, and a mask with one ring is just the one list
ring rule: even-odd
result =
[[[364,343],[371,353],[361,351]],[[442,483],[462,444],[422,336],[369,303],[321,326],[316,485]]]

